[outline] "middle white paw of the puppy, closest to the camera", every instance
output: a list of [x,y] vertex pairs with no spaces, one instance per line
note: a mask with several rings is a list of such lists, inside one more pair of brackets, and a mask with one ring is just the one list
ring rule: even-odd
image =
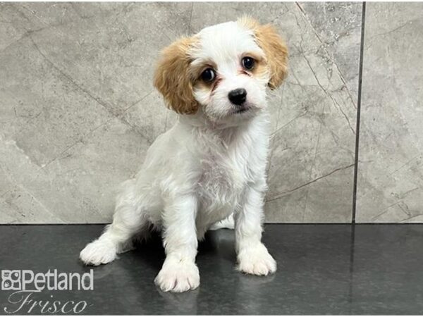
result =
[[166,259],[154,282],[164,292],[186,292],[200,285],[200,273],[194,262]]

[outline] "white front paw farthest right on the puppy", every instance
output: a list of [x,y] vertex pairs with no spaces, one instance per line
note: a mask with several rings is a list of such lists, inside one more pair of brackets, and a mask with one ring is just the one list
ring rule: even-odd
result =
[[264,244],[245,247],[238,253],[238,270],[254,275],[268,275],[276,272],[276,261]]

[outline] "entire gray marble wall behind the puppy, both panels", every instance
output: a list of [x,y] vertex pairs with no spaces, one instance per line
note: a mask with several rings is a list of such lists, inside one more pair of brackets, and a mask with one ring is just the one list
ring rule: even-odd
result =
[[423,8],[366,13],[339,2],[0,4],[0,223],[109,222],[114,189],[176,120],[152,87],[157,52],[243,14],[274,23],[290,51],[269,100],[266,221],[353,219],[362,46],[356,218],[421,221]]

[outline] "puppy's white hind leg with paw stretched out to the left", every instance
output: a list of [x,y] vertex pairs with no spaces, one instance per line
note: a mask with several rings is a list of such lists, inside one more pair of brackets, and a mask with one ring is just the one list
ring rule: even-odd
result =
[[123,182],[116,197],[113,223],[107,225],[102,235],[80,252],[85,264],[98,266],[116,259],[117,254],[132,248],[132,238],[149,228],[145,212],[137,202],[135,180]]

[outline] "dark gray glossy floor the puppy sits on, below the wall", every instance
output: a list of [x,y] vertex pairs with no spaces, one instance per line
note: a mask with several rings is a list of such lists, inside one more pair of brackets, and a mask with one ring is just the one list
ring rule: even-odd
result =
[[[0,268],[85,272],[78,252],[102,225],[4,225]],[[94,268],[93,291],[47,291],[34,300],[84,300],[89,314],[422,314],[423,225],[266,225],[278,261],[266,278],[234,271],[233,232],[200,244],[200,288],[168,294],[153,284],[158,237]],[[0,291],[1,313],[11,291]],[[27,307],[19,311],[25,313]],[[32,313],[39,313],[36,309]]]

